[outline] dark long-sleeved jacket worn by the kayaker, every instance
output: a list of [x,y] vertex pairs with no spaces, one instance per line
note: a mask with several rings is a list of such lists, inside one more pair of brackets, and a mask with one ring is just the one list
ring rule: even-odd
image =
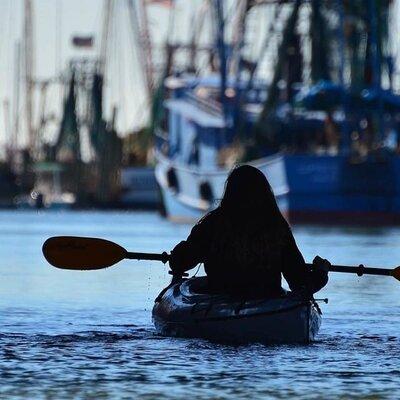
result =
[[271,235],[262,221],[223,214],[221,209],[209,213],[172,250],[173,272],[204,263],[211,290],[246,295],[281,294],[281,275],[292,291],[312,294],[326,285],[327,273],[306,266],[283,218]]

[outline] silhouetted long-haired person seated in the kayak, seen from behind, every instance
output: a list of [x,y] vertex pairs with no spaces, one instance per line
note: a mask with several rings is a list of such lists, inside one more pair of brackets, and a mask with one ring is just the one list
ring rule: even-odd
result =
[[204,263],[209,290],[279,296],[281,276],[295,292],[311,295],[328,282],[329,262],[307,267],[265,175],[249,165],[233,169],[220,205],[171,252],[174,275]]

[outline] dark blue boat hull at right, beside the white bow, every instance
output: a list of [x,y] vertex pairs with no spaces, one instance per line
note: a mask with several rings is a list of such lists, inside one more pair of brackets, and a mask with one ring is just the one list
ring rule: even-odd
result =
[[291,222],[400,223],[400,161],[285,155]]

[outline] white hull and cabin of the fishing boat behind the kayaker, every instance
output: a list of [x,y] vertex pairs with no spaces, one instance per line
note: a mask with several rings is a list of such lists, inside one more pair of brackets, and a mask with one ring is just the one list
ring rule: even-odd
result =
[[[168,134],[158,131],[156,138],[156,178],[166,216],[175,221],[198,219],[218,204],[231,170],[219,164],[220,157],[224,151],[226,157],[229,152],[236,157],[239,151],[218,105],[193,94],[200,89],[218,90],[218,79],[212,82],[194,76],[165,82],[171,93],[171,99],[165,102]],[[282,155],[276,152],[248,163],[266,175],[279,207],[286,213],[288,186]]]

